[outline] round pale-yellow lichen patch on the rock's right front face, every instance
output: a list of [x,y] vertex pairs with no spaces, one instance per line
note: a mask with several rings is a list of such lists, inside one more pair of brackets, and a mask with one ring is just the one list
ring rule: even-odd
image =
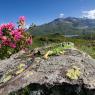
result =
[[77,80],[81,75],[80,68],[73,66],[71,69],[69,69],[66,73],[66,76],[69,79]]

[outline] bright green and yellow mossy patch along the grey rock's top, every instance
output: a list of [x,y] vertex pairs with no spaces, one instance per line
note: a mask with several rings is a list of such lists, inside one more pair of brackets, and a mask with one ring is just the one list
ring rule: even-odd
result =
[[64,54],[65,49],[69,49],[69,48],[74,48],[74,44],[71,42],[52,44],[50,47],[46,48],[45,54],[43,57],[45,59],[48,59],[48,56]]

